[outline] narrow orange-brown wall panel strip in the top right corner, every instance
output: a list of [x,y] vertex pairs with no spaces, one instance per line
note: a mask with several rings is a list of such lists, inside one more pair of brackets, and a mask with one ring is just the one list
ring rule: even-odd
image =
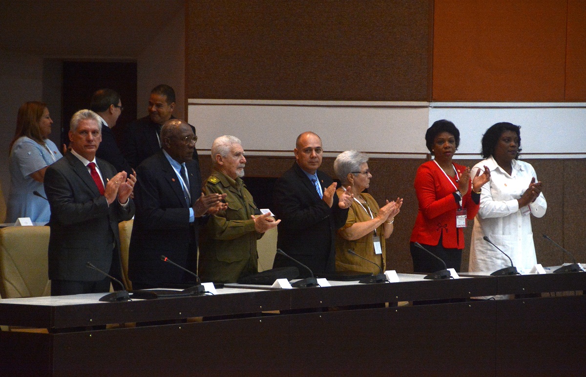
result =
[[568,0],[565,100],[586,101],[586,0]]

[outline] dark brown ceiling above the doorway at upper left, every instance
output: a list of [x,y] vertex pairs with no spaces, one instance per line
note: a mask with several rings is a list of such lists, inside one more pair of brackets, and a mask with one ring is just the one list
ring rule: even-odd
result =
[[[134,58],[185,0],[0,0],[0,49],[46,57]],[[178,25],[178,33],[185,33]]]

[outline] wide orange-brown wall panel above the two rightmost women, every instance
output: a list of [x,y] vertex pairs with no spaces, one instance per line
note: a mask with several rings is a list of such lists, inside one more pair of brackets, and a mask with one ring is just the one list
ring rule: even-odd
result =
[[563,101],[566,14],[567,0],[436,0],[433,99]]

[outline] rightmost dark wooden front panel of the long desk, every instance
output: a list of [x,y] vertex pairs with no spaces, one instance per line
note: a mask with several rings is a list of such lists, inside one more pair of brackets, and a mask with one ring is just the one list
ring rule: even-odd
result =
[[584,375],[586,296],[497,302],[500,375]]

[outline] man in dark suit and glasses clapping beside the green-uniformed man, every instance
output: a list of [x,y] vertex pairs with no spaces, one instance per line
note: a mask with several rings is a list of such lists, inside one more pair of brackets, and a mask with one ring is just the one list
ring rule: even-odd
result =
[[178,267],[161,261],[165,255],[195,272],[197,238],[207,214],[227,208],[226,194],[202,194],[199,164],[193,160],[197,136],[179,119],[161,130],[162,149],[137,167],[137,187],[128,275],[132,288],[165,287],[194,281]]

